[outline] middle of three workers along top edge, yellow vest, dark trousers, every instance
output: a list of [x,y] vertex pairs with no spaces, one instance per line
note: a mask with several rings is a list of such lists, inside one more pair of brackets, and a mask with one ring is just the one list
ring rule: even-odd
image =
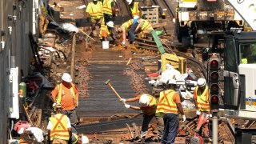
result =
[[117,4],[115,2],[116,0],[104,0],[103,1],[103,17],[105,20],[105,23],[107,22],[114,22],[114,17],[116,17],[116,14],[118,13]]

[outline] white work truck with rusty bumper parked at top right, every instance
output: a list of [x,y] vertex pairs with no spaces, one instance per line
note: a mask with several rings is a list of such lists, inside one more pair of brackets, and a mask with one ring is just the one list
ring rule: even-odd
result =
[[[236,0],[234,0],[236,1]],[[244,21],[224,0],[178,0],[176,34],[183,46],[205,42],[207,34],[242,28]]]

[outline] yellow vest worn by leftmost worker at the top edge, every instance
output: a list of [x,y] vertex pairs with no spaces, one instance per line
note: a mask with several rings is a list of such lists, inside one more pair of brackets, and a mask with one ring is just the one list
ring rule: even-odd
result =
[[94,5],[94,2],[90,2],[86,10],[90,14],[90,18],[99,19],[103,17],[102,13],[102,2],[97,2],[97,5]]

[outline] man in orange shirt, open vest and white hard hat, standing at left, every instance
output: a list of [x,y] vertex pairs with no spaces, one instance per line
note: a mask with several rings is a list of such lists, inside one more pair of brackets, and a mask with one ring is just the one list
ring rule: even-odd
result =
[[62,83],[58,84],[51,92],[51,97],[54,102],[62,104],[63,108],[61,113],[70,118],[73,126],[76,126],[78,107],[78,90],[72,83],[70,74],[64,73],[62,75]]

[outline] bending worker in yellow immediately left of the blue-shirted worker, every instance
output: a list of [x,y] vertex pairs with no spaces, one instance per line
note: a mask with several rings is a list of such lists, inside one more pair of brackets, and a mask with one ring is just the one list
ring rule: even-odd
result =
[[130,30],[130,26],[133,25],[134,19],[130,19],[129,21],[124,22],[120,27],[118,27],[116,30],[118,30],[118,33],[122,33],[122,46],[126,46],[126,34],[127,31]]

